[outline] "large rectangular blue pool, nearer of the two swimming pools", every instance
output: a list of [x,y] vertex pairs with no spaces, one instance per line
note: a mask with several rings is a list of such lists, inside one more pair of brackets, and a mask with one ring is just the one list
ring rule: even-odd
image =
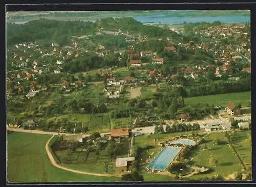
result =
[[147,169],[164,170],[181,150],[181,147],[164,147]]

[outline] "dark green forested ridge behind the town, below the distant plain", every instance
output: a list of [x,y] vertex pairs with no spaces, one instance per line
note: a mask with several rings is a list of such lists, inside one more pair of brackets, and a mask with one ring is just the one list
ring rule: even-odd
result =
[[103,28],[106,31],[119,29],[123,33],[147,35],[148,37],[178,37],[178,34],[152,25],[143,25],[132,17],[104,18],[95,23],[89,21],[58,21],[51,19],[32,20],[25,24],[7,23],[7,45],[40,39],[52,40],[65,45],[68,37],[91,35]]

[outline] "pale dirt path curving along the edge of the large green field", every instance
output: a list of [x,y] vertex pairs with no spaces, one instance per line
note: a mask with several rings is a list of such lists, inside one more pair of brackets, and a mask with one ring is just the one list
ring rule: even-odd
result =
[[66,170],[66,171],[70,171],[70,172],[73,172],[73,173],[78,173],[78,174],[86,174],[86,175],[95,175],[95,176],[101,176],[101,177],[117,177],[115,175],[110,175],[110,174],[101,174],[101,173],[88,173],[88,172],[84,172],[84,171],[79,171],[79,170],[73,170],[73,169],[69,169],[69,168],[65,168],[63,166],[60,166],[56,163],[55,159],[53,158],[52,156],[52,153],[49,149],[49,143],[50,141],[53,139],[54,136],[52,136],[46,143],[46,152],[48,154],[48,157],[50,159],[50,162],[53,166],[59,168],[59,169],[62,169],[62,170]]

